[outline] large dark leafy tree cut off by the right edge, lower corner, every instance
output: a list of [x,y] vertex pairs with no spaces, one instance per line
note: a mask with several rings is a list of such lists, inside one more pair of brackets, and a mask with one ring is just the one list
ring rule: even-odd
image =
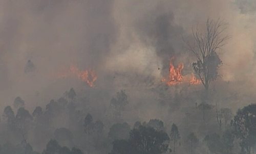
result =
[[256,105],[239,109],[231,124],[234,133],[240,139],[241,147],[250,154],[251,147],[256,143]]

